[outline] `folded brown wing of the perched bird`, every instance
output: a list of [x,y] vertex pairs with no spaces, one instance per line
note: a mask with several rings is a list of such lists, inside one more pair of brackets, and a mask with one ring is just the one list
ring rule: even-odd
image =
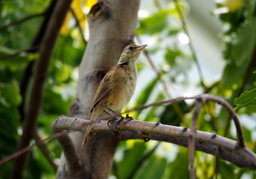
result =
[[[99,89],[101,90],[99,91]],[[111,93],[111,90],[108,87],[108,85],[106,85],[106,78],[104,78],[102,82],[100,82],[98,90],[93,98],[92,108],[90,109],[90,113],[92,113],[92,110],[94,108],[97,108],[110,95],[110,93]]]

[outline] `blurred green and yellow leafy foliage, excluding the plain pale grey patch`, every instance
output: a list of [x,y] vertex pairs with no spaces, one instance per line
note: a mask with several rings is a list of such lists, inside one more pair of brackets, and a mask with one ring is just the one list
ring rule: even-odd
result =
[[[90,8],[95,2],[74,0],[72,4],[82,30],[88,29],[83,10]],[[207,90],[212,94],[222,96],[231,104],[237,104],[235,109],[239,114],[246,114],[252,118],[256,105],[255,75],[251,73],[256,69],[256,3],[254,0],[236,0],[238,5],[234,7],[228,2],[230,1],[226,4],[216,4],[217,8],[230,8],[228,13],[220,15],[223,26],[228,26],[220,35],[226,66],[217,85],[209,84]],[[26,51],[24,49],[31,48],[44,20],[44,15],[34,16],[22,22],[19,20],[44,12],[50,3],[50,0],[4,0],[0,2],[1,159],[14,153],[22,132],[23,119],[19,107],[24,102],[26,110],[31,80],[28,83],[26,96],[23,96],[21,84],[24,72],[39,55],[36,50]],[[189,8],[186,2],[178,4],[182,14],[188,14]],[[147,17],[139,17],[136,32],[142,39],[154,39],[154,45],[147,49],[150,57],[159,59],[153,62],[158,72],[152,70],[149,65],[142,64],[145,61],[138,62],[139,75],[144,70],[156,75],[139,92],[135,106],[180,96],[182,95],[180,89],[191,87],[189,72],[194,65],[194,60],[188,45],[181,45],[178,40],[178,35],[184,33],[180,14],[173,2],[167,2],[166,6],[156,3],[155,6],[155,10],[150,11]],[[8,25],[12,22],[16,23]],[[77,23],[74,22],[76,20],[70,12],[62,26],[48,69],[44,100],[37,124],[37,133],[42,139],[52,135],[50,124],[57,116],[67,115],[70,103],[75,99],[78,66],[86,44],[82,40]],[[199,81],[196,81],[193,86],[199,91],[204,91]],[[138,120],[160,121],[162,124],[190,127],[193,111],[194,104],[186,101],[176,106],[155,106],[137,110],[132,116]],[[218,105],[206,102],[200,112],[197,129],[220,135],[224,135],[227,130],[227,137],[236,139],[229,130],[228,119],[228,113],[220,110]],[[255,131],[245,126],[243,130],[246,144],[256,151],[255,137],[253,137]],[[110,177],[118,176],[120,179],[189,178],[188,149],[163,142],[154,148],[153,144],[154,142],[151,143],[151,141],[144,144],[141,140],[121,142],[114,158]],[[58,161],[62,152],[58,142],[50,141],[45,146],[50,157]],[[212,155],[197,152],[195,163],[199,179],[213,178],[214,157]],[[12,167],[13,161],[0,166],[0,179],[8,178]],[[38,147],[32,149],[24,178],[55,178],[55,175],[56,171],[42,151]],[[220,178],[239,179],[245,175],[251,178],[256,176],[249,169],[241,169],[222,160],[218,162],[218,177]]]

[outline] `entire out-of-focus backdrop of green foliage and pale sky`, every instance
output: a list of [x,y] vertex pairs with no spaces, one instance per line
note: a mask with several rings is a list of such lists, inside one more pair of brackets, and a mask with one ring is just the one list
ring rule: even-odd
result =
[[[0,0],[0,159],[14,153],[22,135],[33,65],[38,58],[40,28],[53,0]],[[136,92],[125,110],[160,100],[211,93],[235,107],[256,81],[256,2],[254,0],[141,0],[136,44],[148,44],[137,61]],[[73,0],[60,31],[45,83],[34,144],[52,136],[51,123],[68,115],[75,100],[78,66],[86,50],[86,14],[96,0]],[[118,59],[117,59],[118,60]],[[34,72],[36,73],[36,72]],[[238,101],[239,102],[239,101]],[[253,103],[252,103],[253,104]],[[255,105],[255,104],[254,104]],[[243,106],[243,104],[241,104]],[[190,126],[194,101],[130,112],[137,120]],[[256,108],[237,110],[246,145],[256,152]],[[236,140],[228,113],[206,102],[198,130]],[[62,152],[56,140],[29,153],[24,179],[54,179]],[[45,150],[44,150],[45,151]],[[14,161],[0,166],[0,179],[10,176]],[[196,152],[198,179],[215,178],[214,156]],[[110,179],[187,179],[188,149],[165,142],[121,142]],[[255,172],[218,161],[218,178],[255,179]]]

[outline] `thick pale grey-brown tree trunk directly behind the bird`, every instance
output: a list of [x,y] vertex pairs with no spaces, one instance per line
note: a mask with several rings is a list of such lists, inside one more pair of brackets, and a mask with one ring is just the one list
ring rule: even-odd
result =
[[[79,69],[76,101],[69,116],[90,119],[92,99],[104,75],[117,63],[124,47],[133,43],[139,0],[99,0],[88,14],[90,39]],[[63,154],[57,178],[107,179],[119,139],[110,134],[89,137],[82,150],[84,133],[73,132],[59,140]],[[74,144],[74,150],[68,145]],[[74,157],[70,157],[70,155]],[[72,161],[73,160],[73,161]],[[74,162],[75,161],[75,162]]]

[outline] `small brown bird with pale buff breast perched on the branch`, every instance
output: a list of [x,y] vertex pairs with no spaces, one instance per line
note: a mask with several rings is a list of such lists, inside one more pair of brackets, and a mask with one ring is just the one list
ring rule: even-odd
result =
[[110,69],[100,82],[93,98],[92,108],[90,109],[92,117],[84,136],[82,148],[86,144],[93,122],[103,110],[105,112],[106,110],[118,112],[130,102],[137,83],[136,60],[146,46],[148,45],[130,44],[125,47],[117,65]]

